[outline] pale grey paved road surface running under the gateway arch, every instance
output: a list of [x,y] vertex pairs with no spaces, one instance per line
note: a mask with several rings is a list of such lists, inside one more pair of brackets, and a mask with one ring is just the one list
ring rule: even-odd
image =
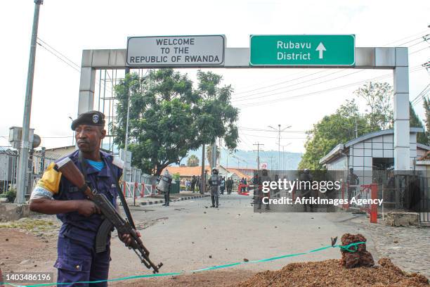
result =
[[[162,272],[300,253],[329,245],[331,236],[340,238],[346,232],[363,232],[339,223],[351,217],[344,213],[254,213],[252,198],[235,193],[221,196],[219,209],[208,208],[209,201],[210,198],[200,198],[171,203],[169,208],[162,205],[133,208],[136,224],[146,227],[142,234],[150,257],[155,263],[164,263]],[[110,276],[148,273],[136,255],[120,245],[118,240],[112,242]],[[372,246],[369,248],[372,251]],[[311,255],[236,268],[279,269],[289,262],[339,257],[339,249],[330,248]]]

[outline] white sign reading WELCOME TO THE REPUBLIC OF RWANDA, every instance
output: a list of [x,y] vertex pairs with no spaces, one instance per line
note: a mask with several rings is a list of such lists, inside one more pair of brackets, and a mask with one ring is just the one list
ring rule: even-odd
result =
[[223,65],[224,35],[129,37],[129,67]]

